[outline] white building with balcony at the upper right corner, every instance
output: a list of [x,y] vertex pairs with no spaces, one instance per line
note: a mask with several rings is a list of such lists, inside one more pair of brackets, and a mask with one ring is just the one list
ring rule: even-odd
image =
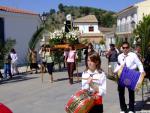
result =
[[136,3],[121,10],[117,14],[116,34],[123,38],[123,40],[129,40],[128,38],[132,37],[132,31],[136,24],[143,19],[144,15],[148,14],[150,14],[150,0]]

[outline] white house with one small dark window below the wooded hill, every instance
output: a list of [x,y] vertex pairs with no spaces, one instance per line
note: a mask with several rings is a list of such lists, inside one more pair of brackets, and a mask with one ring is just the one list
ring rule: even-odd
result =
[[103,35],[98,27],[98,20],[95,15],[87,15],[73,21],[74,28],[81,32],[81,40],[98,43]]

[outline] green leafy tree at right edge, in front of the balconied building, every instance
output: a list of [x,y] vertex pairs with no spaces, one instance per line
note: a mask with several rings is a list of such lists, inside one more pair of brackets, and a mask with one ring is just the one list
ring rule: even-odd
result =
[[144,16],[143,19],[139,21],[133,33],[135,37],[137,37],[137,40],[140,39],[142,56],[145,57],[147,54],[146,50],[148,46],[150,46],[150,15]]

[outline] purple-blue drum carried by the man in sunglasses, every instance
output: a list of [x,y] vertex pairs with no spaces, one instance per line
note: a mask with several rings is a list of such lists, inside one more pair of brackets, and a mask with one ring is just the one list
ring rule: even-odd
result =
[[144,74],[141,74],[136,70],[129,69],[126,65],[124,65],[121,66],[118,71],[118,83],[119,85],[127,87],[131,90],[139,90],[142,86],[144,76]]

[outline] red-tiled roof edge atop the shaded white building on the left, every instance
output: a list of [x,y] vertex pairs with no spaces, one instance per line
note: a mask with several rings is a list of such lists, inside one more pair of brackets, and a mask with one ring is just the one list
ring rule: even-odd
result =
[[12,13],[20,13],[20,14],[38,15],[38,14],[33,13],[31,11],[25,11],[25,10],[21,10],[21,9],[6,7],[6,6],[0,6],[0,11],[6,11],[6,12],[12,12]]

